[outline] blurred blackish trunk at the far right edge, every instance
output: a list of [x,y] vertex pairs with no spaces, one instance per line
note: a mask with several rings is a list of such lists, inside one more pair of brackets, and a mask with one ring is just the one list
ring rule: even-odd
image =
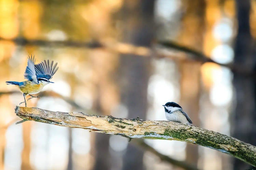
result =
[[[255,71],[256,57],[253,55],[253,38],[250,33],[250,0],[236,0],[238,33],[234,47],[234,64]],[[234,109],[232,130],[234,137],[256,145],[256,80],[234,72],[237,106]],[[252,166],[234,159],[234,169],[251,169]]]

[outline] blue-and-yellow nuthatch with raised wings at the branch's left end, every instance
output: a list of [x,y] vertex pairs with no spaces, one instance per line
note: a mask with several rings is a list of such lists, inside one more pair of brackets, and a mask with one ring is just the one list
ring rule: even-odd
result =
[[[25,107],[27,107],[27,102],[25,97],[27,95],[31,96],[31,98],[40,98],[40,96],[32,96],[33,94],[39,93],[43,87],[50,82],[49,80],[53,77],[55,72],[58,70],[59,67],[56,67],[57,63],[53,65],[53,61],[49,63],[49,60],[42,61],[39,64],[35,64],[35,56],[32,57],[28,56],[28,66],[26,67],[26,71],[24,73],[25,79],[28,81],[24,82],[13,82],[8,81],[5,82],[6,84],[14,84],[19,87],[20,91],[23,93]],[[29,100],[28,99],[28,100]]]

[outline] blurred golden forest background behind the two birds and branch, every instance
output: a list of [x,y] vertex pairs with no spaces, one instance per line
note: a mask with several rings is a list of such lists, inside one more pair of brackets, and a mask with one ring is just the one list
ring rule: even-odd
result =
[[[23,97],[5,81],[24,81],[28,54],[59,65],[28,107],[166,120],[161,105],[175,101],[195,125],[256,145],[255,38],[255,0],[0,0],[0,169],[181,169],[123,137],[15,125]],[[250,168],[145,142],[199,169]]]

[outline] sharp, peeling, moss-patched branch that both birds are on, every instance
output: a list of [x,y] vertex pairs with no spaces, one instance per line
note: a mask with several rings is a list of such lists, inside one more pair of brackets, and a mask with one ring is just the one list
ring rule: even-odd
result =
[[179,140],[212,148],[256,166],[256,147],[217,132],[176,122],[121,119],[83,113],[52,112],[36,107],[18,107],[15,113],[22,119],[34,120],[70,128],[89,129],[98,133],[128,138]]

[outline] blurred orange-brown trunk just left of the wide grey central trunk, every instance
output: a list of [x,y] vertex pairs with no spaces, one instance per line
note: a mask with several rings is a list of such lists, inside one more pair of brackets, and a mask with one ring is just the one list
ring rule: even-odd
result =
[[[117,83],[115,82],[115,76],[118,72],[118,56],[102,49],[92,51],[91,56],[94,74],[97,78],[95,79],[96,98],[94,107],[98,113],[110,115],[112,109],[119,103],[119,94],[118,90],[116,90]],[[109,135],[95,135],[96,160],[94,169],[96,170],[109,170],[115,166],[110,153],[109,138]]]

